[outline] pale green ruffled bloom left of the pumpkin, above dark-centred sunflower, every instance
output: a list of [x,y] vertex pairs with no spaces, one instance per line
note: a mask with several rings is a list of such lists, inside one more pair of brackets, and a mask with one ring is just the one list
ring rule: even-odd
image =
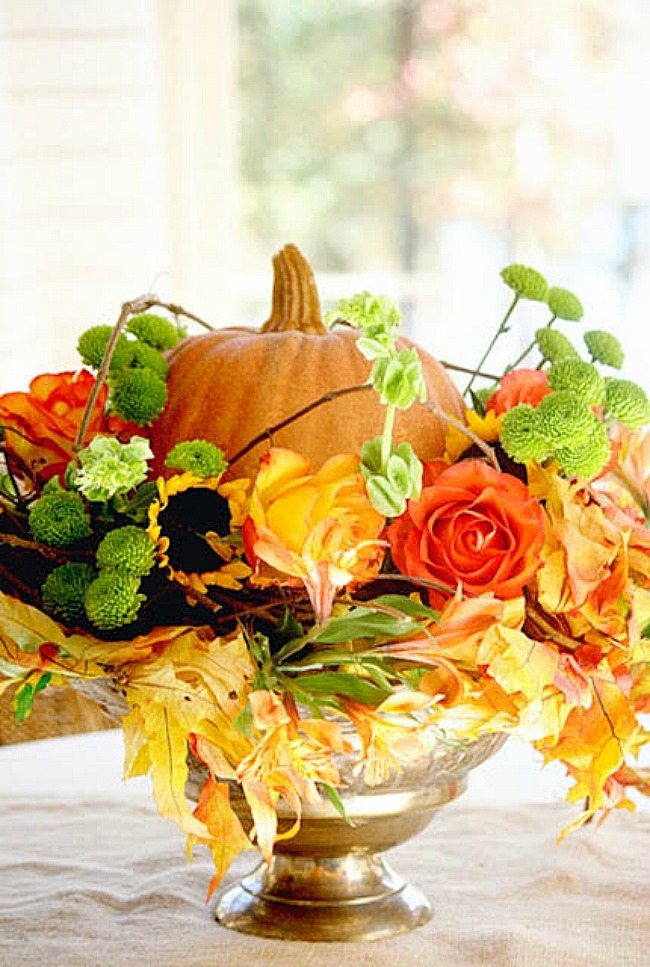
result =
[[110,500],[133,490],[147,476],[153,457],[149,442],[134,436],[128,443],[98,435],[78,455],[73,484],[88,500]]

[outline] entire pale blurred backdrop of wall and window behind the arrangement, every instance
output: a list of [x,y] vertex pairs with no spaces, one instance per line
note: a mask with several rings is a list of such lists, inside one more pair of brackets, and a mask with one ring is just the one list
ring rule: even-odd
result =
[[[326,304],[386,292],[466,364],[504,308],[499,269],[533,264],[644,382],[645,14],[0,0],[0,388],[74,365],[75,334],[147,288],[219,325],[263,321],[287,241]],[[522,344],[545,321],[530,309]]]

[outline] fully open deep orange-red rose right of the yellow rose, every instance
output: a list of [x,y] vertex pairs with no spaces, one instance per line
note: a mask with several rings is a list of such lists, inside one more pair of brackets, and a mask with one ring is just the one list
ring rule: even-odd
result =
[[[538,569],[544,514],[521,480],[481,460],[430,464],[418,500],[389,528],[395,565],[411,577],[515,598]],[[430,592],[434,606],[444,595]]]

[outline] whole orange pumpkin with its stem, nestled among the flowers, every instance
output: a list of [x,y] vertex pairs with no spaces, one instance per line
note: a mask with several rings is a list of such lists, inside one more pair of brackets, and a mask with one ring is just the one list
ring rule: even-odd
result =
[[[169,475],[164,459],[183,441],[202,438],[230,459],[252,439],[324,394],[364,383],[370,363],[349,326],[326,329],[308,262],[294,245],[273,259],[272,311],[261,329],[215,329],[184,339],[169,355],[168,402],[151,428],[154,471]],[[405,346],[412,345],[407,339]],[[419,350],[428,398],[462,419],[462,398],[445,368]],[[372,390],[343,395],[258,443],[230,476],[252,477],[273,444],[303,453],[319,467],[335,453],[358,452],[378,436],[385,408]],[[444,422],[421,404],[399,413],[396,439],[409,439],[423,460],[444,448]]]

